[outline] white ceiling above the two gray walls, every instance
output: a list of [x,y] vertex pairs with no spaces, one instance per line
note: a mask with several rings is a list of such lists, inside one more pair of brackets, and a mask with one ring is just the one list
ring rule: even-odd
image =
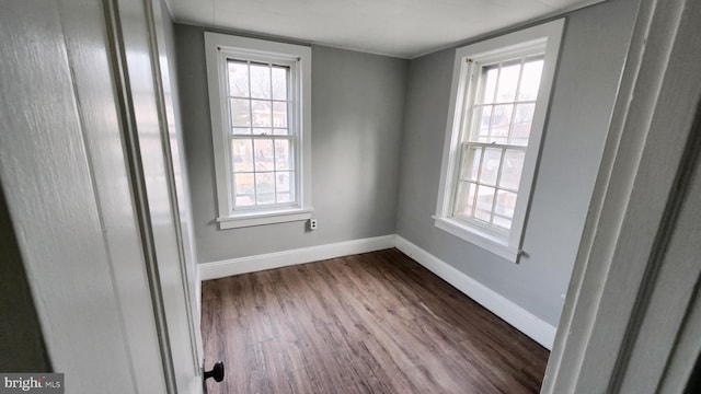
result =
[[168,0],[176,22],[414,58],[605,0]]

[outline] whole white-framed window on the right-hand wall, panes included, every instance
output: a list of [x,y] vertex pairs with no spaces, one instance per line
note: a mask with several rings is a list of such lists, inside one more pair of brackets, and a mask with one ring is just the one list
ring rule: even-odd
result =
[[562,20],[456,51],[436,227],[516,262]]

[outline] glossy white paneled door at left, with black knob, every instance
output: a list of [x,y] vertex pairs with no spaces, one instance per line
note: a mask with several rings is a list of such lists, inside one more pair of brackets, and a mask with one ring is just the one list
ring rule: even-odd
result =
[[0,179],[67,392],[202,392],[160,7],[0,0]]

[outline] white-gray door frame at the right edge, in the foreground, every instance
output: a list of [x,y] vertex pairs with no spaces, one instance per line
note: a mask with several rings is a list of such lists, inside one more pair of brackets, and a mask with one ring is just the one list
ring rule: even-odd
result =
[[696,0],[641,1],[542,393],[679,392],[668,378],[690,376],[699,299],[669,283],[698,288],[699,270],[679,269],[698,245],[669,246],[700,204],[699,18]]

